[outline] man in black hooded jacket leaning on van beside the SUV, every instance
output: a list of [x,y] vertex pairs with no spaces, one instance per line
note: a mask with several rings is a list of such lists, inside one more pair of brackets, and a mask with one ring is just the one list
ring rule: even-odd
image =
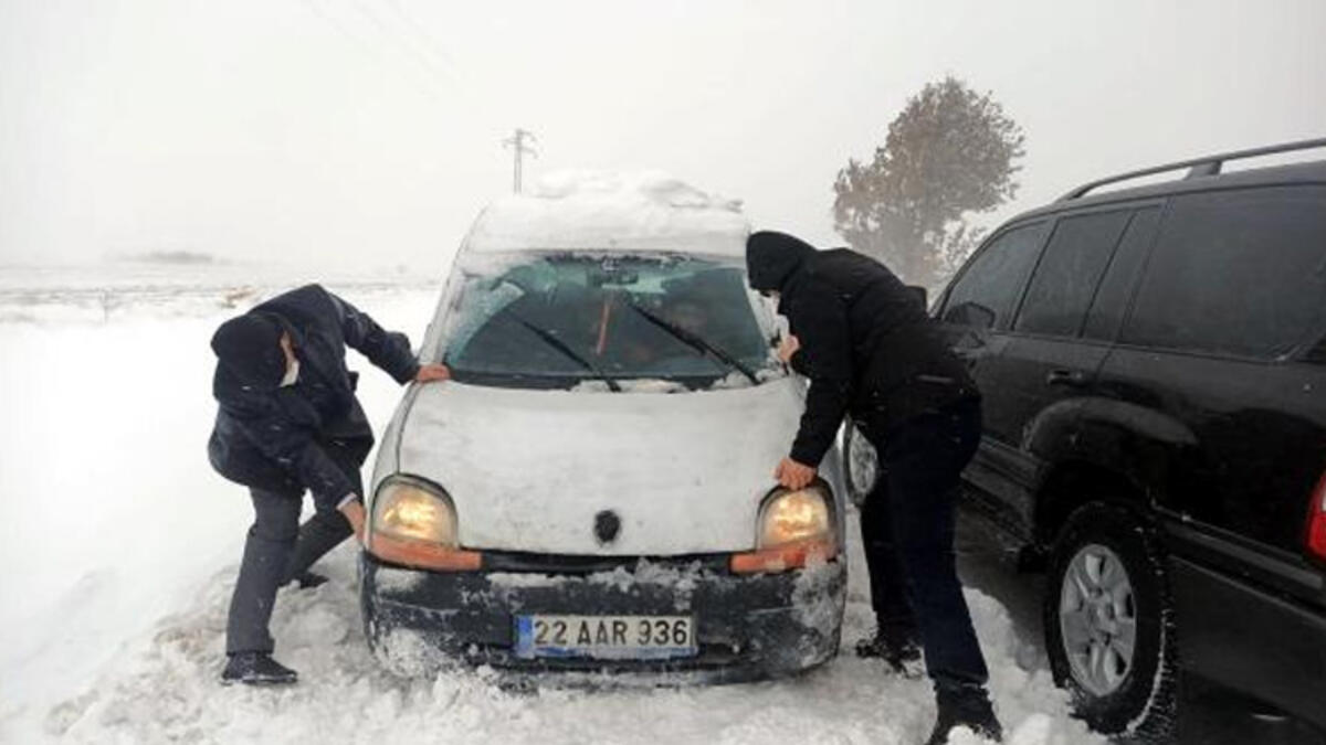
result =
[[849,412],[879,452],[883,473],[861,514],[878,628],[858,654],[906,671],[924,648],[939,701],[930,742],[947,742],[956,726],[997,740],[953,566],[959,475],[981,432],[976,384],[919,298],[878,261],[757,232],[747,268],[751,286],[776,294],[788,318],[780,355],[810,379],[801,428],[774,476],[789,489],[810,484]]

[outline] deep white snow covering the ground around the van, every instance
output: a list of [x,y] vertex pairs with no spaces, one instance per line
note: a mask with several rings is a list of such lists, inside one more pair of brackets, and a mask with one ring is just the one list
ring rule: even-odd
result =
[[[794,680],[533,693],[505,692],[484,671],[399,680],[363,642],[346,545],[324,562],[332,582],[277,601],[277,658],[300,685],[221,688],[225,606],[252,512],[207,464],[207,342],[292,278],[172,272],[103,290],[97,276],[0,268],[0,742],[888,745],[928,734],[928,684],[850,654],[870,624],[854,525],[846,654]],[[416,343],[438,293],[423,281],[326,284]],[[381,428],[399,388],[357,362]],[[973,590],[968,601],[1008,742],[1102,742],[1066,716],[1048,671],[1018,664],[1036,655],[1005,608]]]

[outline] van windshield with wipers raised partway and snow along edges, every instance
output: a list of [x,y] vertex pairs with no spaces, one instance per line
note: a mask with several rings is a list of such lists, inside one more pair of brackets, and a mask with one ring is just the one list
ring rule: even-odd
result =
[[623,391],[782,374],[740,265],[575,252],[460,270],[444,357],[459,382]]

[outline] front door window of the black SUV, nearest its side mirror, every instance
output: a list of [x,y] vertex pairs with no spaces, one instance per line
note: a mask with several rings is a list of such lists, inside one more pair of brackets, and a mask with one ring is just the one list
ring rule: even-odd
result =
[[1013,228],[977,253],[948,293],[944,321],[983,329],[1005,327],[1022,281],[1036,262],[1045,225]]

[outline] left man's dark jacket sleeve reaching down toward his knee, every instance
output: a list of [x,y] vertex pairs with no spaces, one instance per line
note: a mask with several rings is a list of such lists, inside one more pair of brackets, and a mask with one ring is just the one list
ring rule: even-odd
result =
[[355,492],[354,484],[318,445],[313,432],[284,411],[276,400],[278,395],[281,394],[252,395],[237,400],[223,399],[220,403],[244,439],[294,476],[313,493],[320,508],[335,508]]

